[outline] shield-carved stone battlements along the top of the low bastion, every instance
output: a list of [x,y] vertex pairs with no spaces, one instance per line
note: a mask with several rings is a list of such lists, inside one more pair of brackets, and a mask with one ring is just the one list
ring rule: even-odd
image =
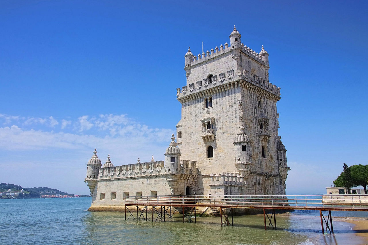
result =
[[[98,179],[111,179],[133,176],[150,176],[166,172],[164,161],[139,162],[128,165],[102,167],[99,171]],[[197,161],[181,160],[178,166],[179,174],[198,174]]]

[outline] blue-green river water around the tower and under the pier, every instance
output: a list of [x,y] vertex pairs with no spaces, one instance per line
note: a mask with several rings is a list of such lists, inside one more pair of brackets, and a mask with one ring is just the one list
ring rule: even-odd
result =
[[[277,230],[264,230],[263,215],[234,217],[221,227],[220,217],[182,223],[124,220],[124,213],[88,212],[91,198],[0,200],[1,244],[363,244],[351,224],[335,222],[335,234],[322,235],[319,212],[300,210],[276,215]],[[348,215],[347,215],[348,214]],[[333,212],[361,216],[365,212]],[[150,217],[150,215],[148,215]],[[364,216],[367,217],[367,216]]]

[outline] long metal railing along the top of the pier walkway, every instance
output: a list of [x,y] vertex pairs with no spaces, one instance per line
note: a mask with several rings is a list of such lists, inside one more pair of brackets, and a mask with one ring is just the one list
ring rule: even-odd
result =
[[367,208],[368,195],[166,195],[130,196],[125,205],[162,206],[233,206],[233,207],[280,207],[332,208],[348,206]]

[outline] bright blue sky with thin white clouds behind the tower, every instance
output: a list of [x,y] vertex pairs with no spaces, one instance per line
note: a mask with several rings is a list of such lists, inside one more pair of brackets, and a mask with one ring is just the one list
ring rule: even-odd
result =
[[287,194],[325,193],[368,164],[367,1],[0,2],[0,181],[88,194],[98,149],[163,160],[180,120],[184,55],[241,41],[281,87]]

